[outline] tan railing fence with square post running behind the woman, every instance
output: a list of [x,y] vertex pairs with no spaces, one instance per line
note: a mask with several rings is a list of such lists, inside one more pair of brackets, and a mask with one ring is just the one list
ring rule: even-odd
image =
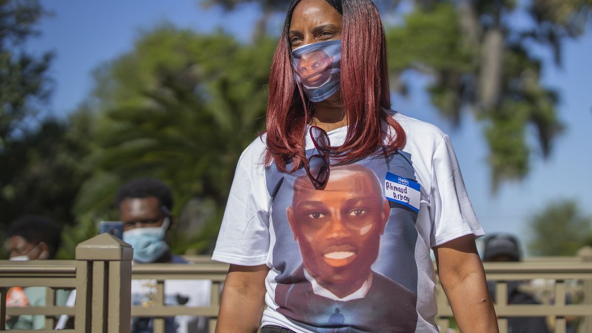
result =
[[[588,252],[586,252],[588,251]],[[496,281],[496,312],[500,332],[507,333],[507,318],[513,316],[545,316],[555,332],[566,332],[568,321],[580,321],[578,333],[592,333],[592,255],[591,249],[577,257],[540,258],[526,262],[486,263],[489,280]],[[153,317],[154,332],[165,331],[165,318],[178,315],[210,318],[214,331],[220,304],[220,288],[228,265],[205,257],[189,260],[195,265],[143,264],[131,265],[130,246],[111,235],[103,234],[82,242],[76,248],[75,261],[0,261],[0,331],[5,330],[6,317],[44,315],[49,332],[56,325],[56,316],[74,316],[74,329],[63,332],[123,333],[130,332],[130,316]],[[155,280],[154,302],[148,306],[131,306],[131,279]],[[210,280],[210,305],[201,307],[166,306],[165,280]],[[528,292],[539,296],[540,305],[508,305],[509,281],[533,280],[526,284]],[[9,287],[47,287],[46,306],[7,308]],[[76,306],[55,305],[57,289],[76,289]],[[448,300],[440,287],[436,292],[440,332],[446,332],[453,318]]]

